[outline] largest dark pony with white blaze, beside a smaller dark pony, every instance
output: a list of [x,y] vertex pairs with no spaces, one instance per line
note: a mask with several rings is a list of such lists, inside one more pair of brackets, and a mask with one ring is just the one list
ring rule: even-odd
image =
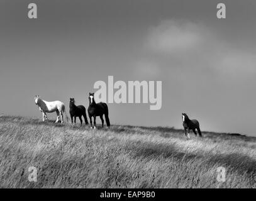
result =
[[102,126],[104,125],[103,114],[105,116],[107,126],[108,127],[110,126],[110,122],[108,118],[108,106],[104,102],[99,102],[96,104],[94,100],[94,93],[89,93],[89,107],[87,111],[90,118],[91,128],[92,128],[92,117],[94,117],[94,128],[96,128],[97,116],[101,118]]

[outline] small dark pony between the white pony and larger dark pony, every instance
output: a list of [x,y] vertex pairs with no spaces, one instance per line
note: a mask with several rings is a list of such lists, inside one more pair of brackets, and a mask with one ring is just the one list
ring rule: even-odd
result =
[[75,106],[75,99],[70,98],[69,102],[69,114],[71,117],[71,122],[73,124],[73,117],[75,117],[74,121],[76,123],[76,117],[79,117],[81,126],[82,126],[82,116],[84,116],[84,121],[88,124],[87,116],[86,116],[86,107],[84,106]]

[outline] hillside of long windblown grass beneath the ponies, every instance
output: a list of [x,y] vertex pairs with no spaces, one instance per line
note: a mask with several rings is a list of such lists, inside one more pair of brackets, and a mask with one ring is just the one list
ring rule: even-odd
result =
[[[256,138],[0,116],[0,187],[256,188]],[[28,167],[38,169],[28,181]],[[226,168],[218,182],[217,168]]]

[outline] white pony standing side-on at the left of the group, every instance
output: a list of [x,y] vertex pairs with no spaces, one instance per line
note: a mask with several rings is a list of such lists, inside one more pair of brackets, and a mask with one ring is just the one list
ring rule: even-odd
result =
[[[47,102],[45,100],[40,99],[39,95],[36,95],[35,103],[43,114],[43,121],[48,120],[46,112],[48,113],[57,112],[57,120],[55,122],[61,121],[63,123],[64,113],[65,113],[65,116],[67,117],[67,113],[65,111],[65,106],[63,102],[60,102],[58,100],[53,102]],[[69,121],[68,117],[67,117],[67,121]]]

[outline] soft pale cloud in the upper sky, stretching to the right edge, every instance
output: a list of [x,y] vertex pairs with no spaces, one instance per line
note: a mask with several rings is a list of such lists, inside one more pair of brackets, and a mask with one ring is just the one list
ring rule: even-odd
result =
[[221,33],[201,23],[162,21],[148,31],[145,47],[154,62],[166,68],[208,70],[231,77],[256,73],[256,52],[235,48]]

